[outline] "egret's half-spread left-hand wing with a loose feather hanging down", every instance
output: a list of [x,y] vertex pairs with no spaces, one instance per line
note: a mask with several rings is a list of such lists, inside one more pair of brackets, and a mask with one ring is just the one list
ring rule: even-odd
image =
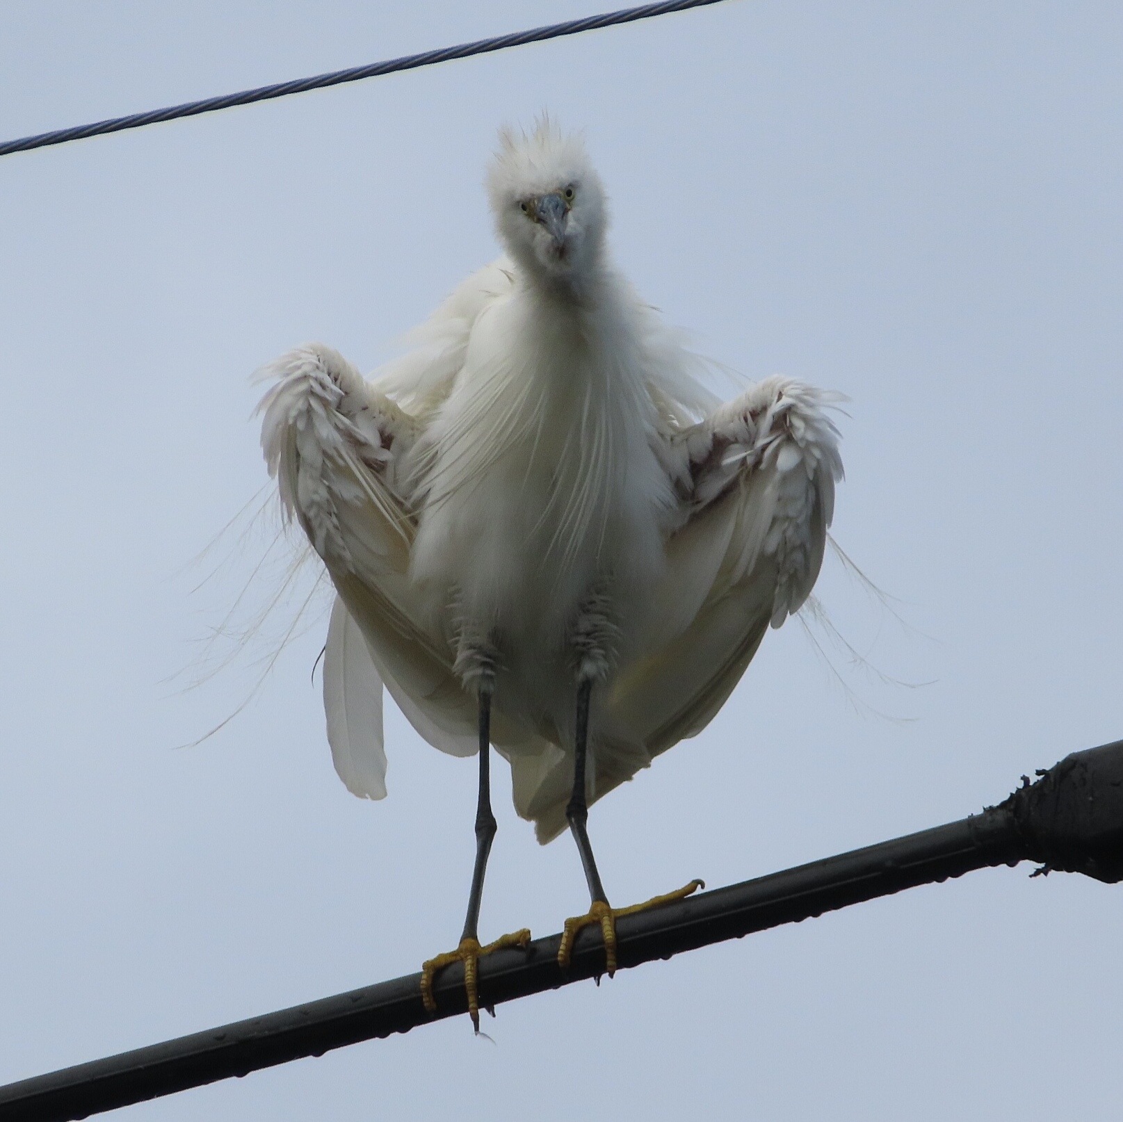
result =
[[[475,751],[474,700],[453,673],[447,644],[426,630],[427,605],[408,575],[416,521],[403,459],[418,425],[329,347],[300,347],[263,376],[276,378],[262,402],[265,458],[286,512],[307,532],[341,600],[325,681],[337,768],[350,790],[377,797],[381,720],[376,731],[365,726],[375,708],[381,717],[383,682],[433,747]],[[364,679],[377,706],[360,700]],[[366,760],[357,770],[356,751]]]

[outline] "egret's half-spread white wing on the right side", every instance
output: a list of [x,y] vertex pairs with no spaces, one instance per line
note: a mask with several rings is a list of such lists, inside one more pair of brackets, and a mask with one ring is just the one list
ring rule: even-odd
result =
[[645,654],[608,702],[610,724],[652,756],[710,722],[768,626],[811,593],[842,476],[834,400],[767,378],[674,436],[687,518],[667,544]]

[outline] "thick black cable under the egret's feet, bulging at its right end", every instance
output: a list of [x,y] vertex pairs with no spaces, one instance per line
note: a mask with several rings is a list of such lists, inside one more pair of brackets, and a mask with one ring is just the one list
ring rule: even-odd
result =
[[[1039,872],[1085,873],[1123,881],[1123,740],[1074,752],[1041,778],[959,822],[756,881],[621,916],[621,968],[669,958],[724,939],[800,922],[903,888],[946,881],[993,865],[1042,863]],[[480,998],[497,1005],[595,977],[604,970],[600,929],[577,936],[563,973],[560,936],[480,960]],[[467,1010],[464,968],[438,975],[438,1012],[421,1001],[421,975],[180,1037],[108,1059],[0,1087],[0,1122],[69,1122],[189,1087],[393,1032]]]

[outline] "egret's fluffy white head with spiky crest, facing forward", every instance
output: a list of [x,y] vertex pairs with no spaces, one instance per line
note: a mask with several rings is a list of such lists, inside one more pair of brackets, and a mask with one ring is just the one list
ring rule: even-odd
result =
[[532,276],[575,283],[600,263],[604,189],[579,136],[547,117],[529,135],[503,129],[487,194],[506,252]]

